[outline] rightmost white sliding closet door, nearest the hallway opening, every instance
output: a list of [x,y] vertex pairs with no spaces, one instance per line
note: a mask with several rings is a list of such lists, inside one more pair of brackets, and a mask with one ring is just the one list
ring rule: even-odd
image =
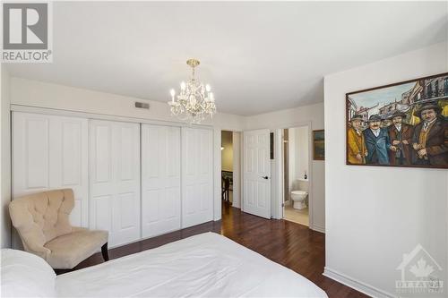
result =
[[182,227],[213,219],[213,132],[182,128]]

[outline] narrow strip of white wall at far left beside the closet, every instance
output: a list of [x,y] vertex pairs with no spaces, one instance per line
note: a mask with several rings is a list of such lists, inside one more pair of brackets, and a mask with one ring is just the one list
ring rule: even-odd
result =
[[1,71],[1,130],[0,140],[1,145],[1,206],[0,211],[0,226],[1,228],[1,246],[11,247],[11,221],[8,213],[8,205],[11,201],[11,121],[10,121],[10,75],[2,65]]

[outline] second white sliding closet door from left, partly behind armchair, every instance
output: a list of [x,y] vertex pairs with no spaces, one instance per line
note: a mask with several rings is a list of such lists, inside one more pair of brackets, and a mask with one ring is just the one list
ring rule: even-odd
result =
[[90,228],[109,245],[140,239],[140,124],[90,121]]

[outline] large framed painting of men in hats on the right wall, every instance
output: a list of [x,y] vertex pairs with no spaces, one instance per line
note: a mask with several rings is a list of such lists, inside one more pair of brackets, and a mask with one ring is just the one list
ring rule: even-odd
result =
[[448,73],[346,95],[347,165],[448,168]]

